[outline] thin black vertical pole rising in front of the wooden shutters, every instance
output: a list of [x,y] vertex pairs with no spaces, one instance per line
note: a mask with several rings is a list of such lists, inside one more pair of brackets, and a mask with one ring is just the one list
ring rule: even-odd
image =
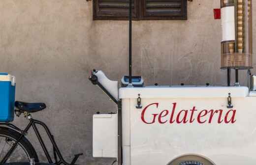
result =
[[131,70],[131,66],[132,66],[132,1],[129,0],[129,83],[131,82],[131,76],[132,76],[132,70]]

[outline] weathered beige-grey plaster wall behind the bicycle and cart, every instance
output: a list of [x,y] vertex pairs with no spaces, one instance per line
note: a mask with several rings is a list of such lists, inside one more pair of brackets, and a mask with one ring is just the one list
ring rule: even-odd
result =
[[[187,21],[134,22],[133,73],[146,84],[225,85],[220,20],[212,12],[219,1],[188,2]],[[92,158],[92,114],[116,107],[87,78],[93,68],[115,80],[128,73],[128,23],[93,21],[92,13],[86,0],[0,0],[0,71],[17,77],[17,100],[47,104],[33,117],[50,126],[68,161],[83,152],[80,164],[110,165],[112,159]]]

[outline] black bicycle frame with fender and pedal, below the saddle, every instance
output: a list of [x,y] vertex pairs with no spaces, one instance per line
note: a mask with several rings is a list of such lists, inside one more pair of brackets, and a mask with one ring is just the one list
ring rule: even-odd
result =
[[[0,162],[0,164],[4,164],[4,163],[7,161],[7,159],[10,157],[10,155],[13,153],[13,151],[14,151],[15,148],[17,147],[19,141],[20,141],[25,135],[27,135],[27,133],[28,133],[28,131],[30,130],[31,127],[33,128],[33,130],[34,130],[34,132],[35,132],[35,134],[36,134],[36,137],[37,137],[37,139],[38,139],[39,142],[40,142],[40,145],[41,145],[41,147],[42,147],[42,149],[43,149],[43,151],[44,151],[44,154],[45,154],[45,156],[46,156],[46,158],[47,158],[49,164],[53,164],[53,161],[52,161],[52,159],[51,159],[51,156],[50,156],[50,154],[49,154],[49,152],[48,152],[48,150],[47,150],[47,148],[46,148],[46,146],[45,146],[45,144],[44,144],[44,141],[43,141],[43,139],[42,139],[42,137],[41,137],[41,135],[40,135],[40,133],[39,133],[37,127],[36,127],[36,124],[41,125],[41,126],[44,128],[44,130],[46,131],[46,133],[47,133],[47,135],[48,135],[48,138],[51,140],[51,143],[52,143],[53,149],[54,149],[55,164],[56,164],[56,165],[61,165],[61,164],[64,164],[64,165],[74,165],[74,164],[75,164],[75,162],[77,161],[78,157],[79,157],[80,155],[82,155],[82,154],[77,154],[77,155],[75,155],[75,157],[74,157],[74,159],[72,160],[72,162],[71,162],[70,164],[67,163],[67,162],[64,160],[64,158],[63,158],[63,156],[62,156],[62,154],[61,154],[61,152],[60,152],[60,149],[58,148],[58,146],[57,146],[57,144],[56,144],[56,142],[55,142],[55,140],[54,140],[54,137],[53,137],[53,135],[51,134],[51,132],[50,132],[49,128],[47,127],[47,125],[46,125],[45,123],[39,121],[39,120],[33,119],[32,117],[31,117],[29,120],[30,120],[30,122],[29,122],[28,126],[27,126],[24,130],[19,129],[18,127],[16,127],[15,125],[13,125],[13,124],[11,124],[11,123],[0,123],[0,125],[8,126],[8,127],[12,128],[12,129],[14,129],[14,130],[17,130],[17,131],[19,131],[19,132],[21,133],[21,136],[20,136],[20,137],[18,138],[18,140],[13,144],[13,146],[10,148],[10,150],[6,153],[6,155],[4,156],[4,158],[2,159],[2,161]],[[57,159],[57,155],[56,155],[56,154],[57,154],[58,157],[59,157],[59,161],[58,161],[58,159]]]

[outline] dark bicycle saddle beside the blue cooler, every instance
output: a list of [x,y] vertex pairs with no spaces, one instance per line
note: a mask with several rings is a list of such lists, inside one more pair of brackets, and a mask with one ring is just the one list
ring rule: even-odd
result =
[[25,103],[25,102],[16,101],[15,107],[18,108],[19,110],[32,113],[32,112],[37,112],[45,109],[46,105],[44,103]]

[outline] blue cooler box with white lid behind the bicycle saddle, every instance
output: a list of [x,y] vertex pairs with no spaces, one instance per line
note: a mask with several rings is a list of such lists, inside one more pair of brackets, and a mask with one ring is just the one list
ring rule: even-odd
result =
[[15,77],[0,73],[0,122],[14,119]]

